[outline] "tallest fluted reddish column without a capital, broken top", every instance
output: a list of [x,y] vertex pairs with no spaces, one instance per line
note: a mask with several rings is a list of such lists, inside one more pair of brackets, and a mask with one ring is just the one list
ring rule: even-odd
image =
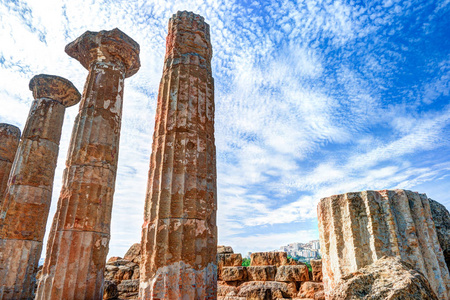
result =
[[216,299],[216,153],[209,25],[169,21],[142,226],[140,299]]

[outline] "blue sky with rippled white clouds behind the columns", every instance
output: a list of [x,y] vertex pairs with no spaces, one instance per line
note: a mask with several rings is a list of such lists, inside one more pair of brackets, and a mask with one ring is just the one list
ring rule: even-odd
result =
[[[64,46],[86,30],[118,27],[141,46],[125,82],[109,256],[140,241],[177,10],[211,26],[219,244],[246,253],[318,238],[318,201],[344,192],[405,188],[450,208],[449,0],[3,0],[0,122],[23,128],[36,74],[83,90],[87,71]],[[76,113],[66,113],[48,224]]]

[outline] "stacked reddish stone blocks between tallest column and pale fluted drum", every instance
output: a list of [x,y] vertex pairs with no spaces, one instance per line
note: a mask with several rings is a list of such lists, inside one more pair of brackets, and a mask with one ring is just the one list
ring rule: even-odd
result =
[[[238,266],[231,255],[241,257],[230,252],[217,255],[219,299],[324,299],[322,283],[310,281],[308,267],[288,259],[286,252],[253,253],[248,267]],[[319,274],[320,263],[314,266],[313,273]]]

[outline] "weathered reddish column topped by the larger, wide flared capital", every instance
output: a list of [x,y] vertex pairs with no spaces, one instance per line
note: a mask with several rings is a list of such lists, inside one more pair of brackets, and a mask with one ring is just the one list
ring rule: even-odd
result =
[[89,70],[36,299],[102,299],[124,81],[139,45],[119,29],[87,31],[66,52]]

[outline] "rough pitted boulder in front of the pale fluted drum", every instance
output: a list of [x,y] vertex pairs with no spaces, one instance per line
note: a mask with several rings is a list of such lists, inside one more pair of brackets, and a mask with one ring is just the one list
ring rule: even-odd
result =
[[420,272],[398,257],[383,257],[371,265],[343,276],[331,291],[329,300],[437,300]]

